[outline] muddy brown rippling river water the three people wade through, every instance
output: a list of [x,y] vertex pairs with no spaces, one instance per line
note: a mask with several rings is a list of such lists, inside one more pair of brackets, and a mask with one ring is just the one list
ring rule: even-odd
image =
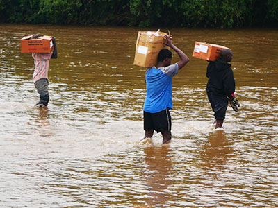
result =
[[[156,133],[136,144],[146,92],[133,58],[148,29],[0,25],[0,207],[278,207],[278,31],[170,29],[190,62],[173,78],[162,146]],[[33,59],[20,53],[35,33],[58,46],[42,109]],[[224,130],[213,130],[195,41],[234,52],[242,106],[228,107]]]

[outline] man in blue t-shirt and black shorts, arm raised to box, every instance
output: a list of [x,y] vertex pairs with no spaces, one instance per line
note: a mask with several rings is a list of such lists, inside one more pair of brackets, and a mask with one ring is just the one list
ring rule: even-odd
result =
[[169,112],[173,107],[172,77],[189,61],[187,55],[172,43],[170,36],[165,35],[164,38],[167,40],[164,44],[174,49],[181,60],[171,65],[170,50],[162,49],[158,53],[157,64],[146,71],[147,95],[144,104],[144,138],[151,138],[156,130],[163,135],[163,144],[172,138]]

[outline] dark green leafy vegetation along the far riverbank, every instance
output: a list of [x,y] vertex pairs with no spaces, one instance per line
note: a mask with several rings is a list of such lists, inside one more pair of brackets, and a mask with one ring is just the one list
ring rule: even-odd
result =
[[277,0],[0,0],[2,23],[277,27]]

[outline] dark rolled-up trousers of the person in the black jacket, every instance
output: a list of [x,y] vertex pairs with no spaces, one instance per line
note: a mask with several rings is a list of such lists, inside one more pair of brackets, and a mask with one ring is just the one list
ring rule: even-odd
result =
[[215,119],[224,120],[228,107],[228,98],[209,93],[207,93],[207,95],[208,101],[211,103],[211,108],[213,109]]

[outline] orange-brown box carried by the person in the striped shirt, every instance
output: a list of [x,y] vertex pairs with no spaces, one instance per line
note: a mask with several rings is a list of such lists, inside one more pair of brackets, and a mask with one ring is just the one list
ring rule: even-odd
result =
[[44,35],[37,39],[33,35],[22,37],[22,53],[50,53],[53,50],[52,37]]

